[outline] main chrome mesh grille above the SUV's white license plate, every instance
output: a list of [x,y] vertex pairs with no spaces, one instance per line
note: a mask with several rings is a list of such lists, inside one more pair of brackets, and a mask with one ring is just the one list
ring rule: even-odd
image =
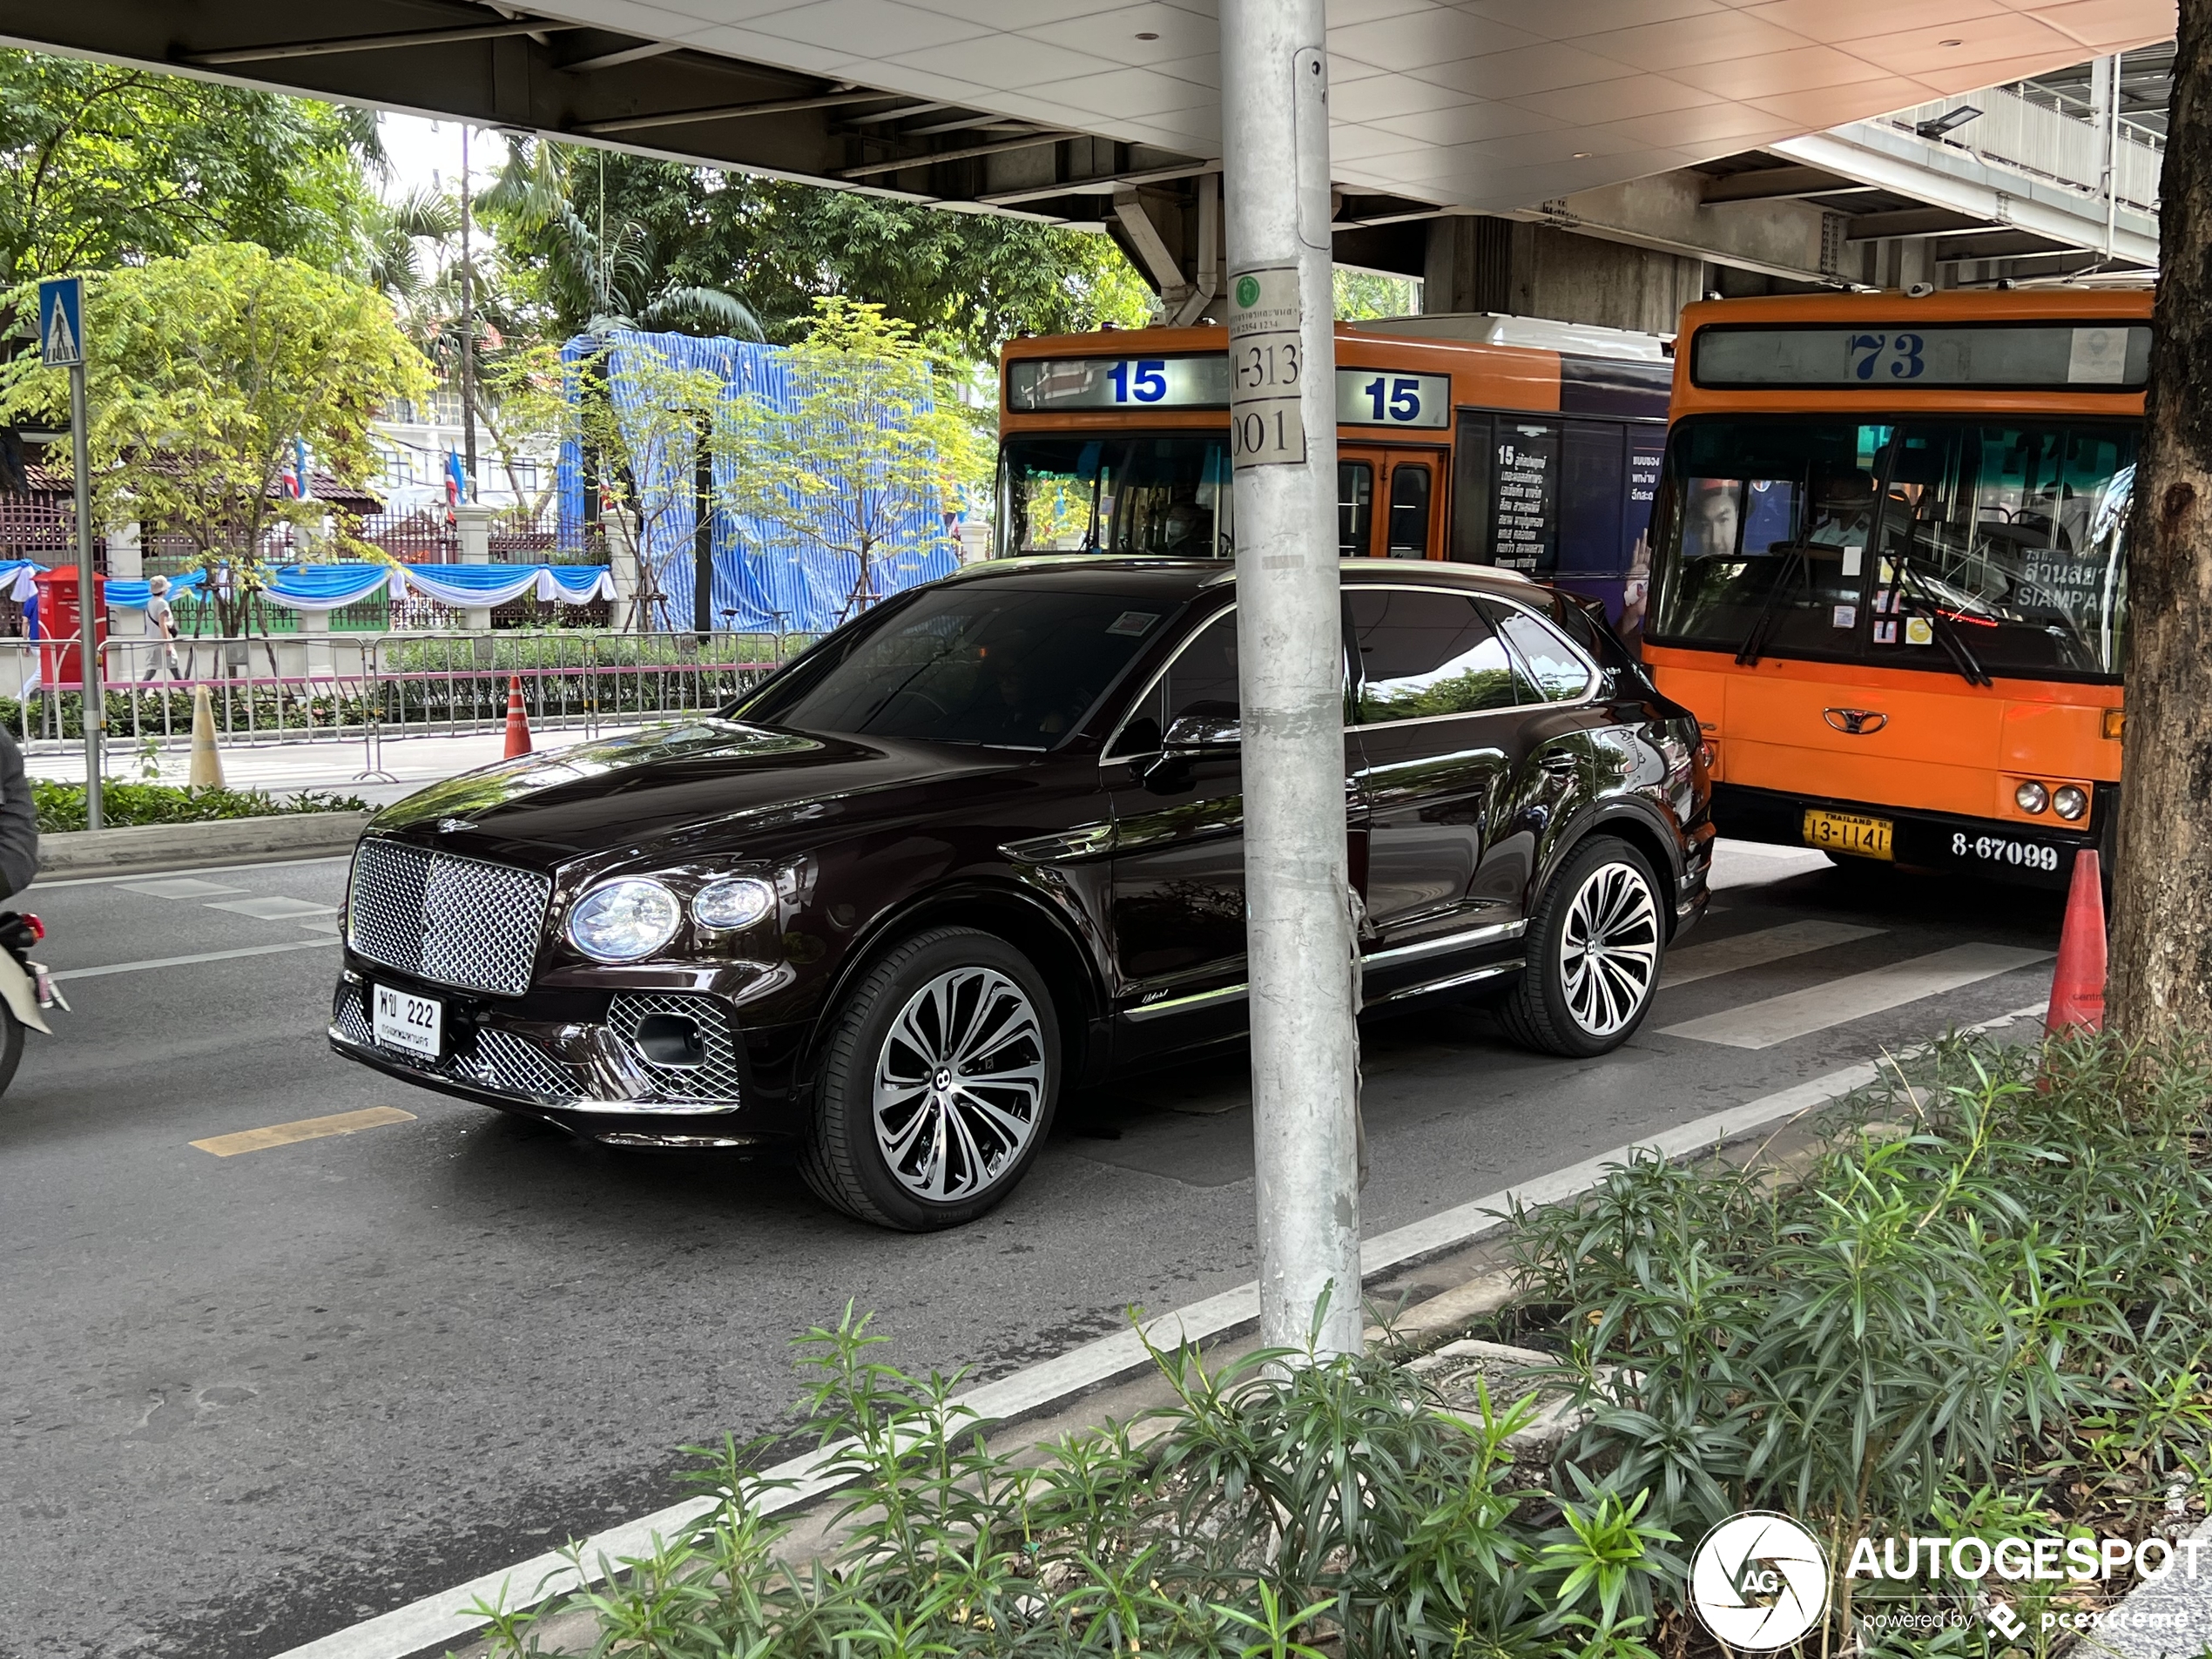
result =
[[347,942],[372,962],[495,995],[531,989],[553,880],[372,836],[354,854]]

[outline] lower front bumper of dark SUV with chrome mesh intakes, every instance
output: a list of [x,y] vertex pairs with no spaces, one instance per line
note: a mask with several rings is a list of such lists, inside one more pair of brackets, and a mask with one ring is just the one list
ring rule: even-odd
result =
[[[438,998],[445,1053],[422,1060],[376,1042],[369,984]],[[670,1062],[639,1042],[655,1015],[697,1031],[697,1055]],[[630,1144],[743,1146],[781,1139],[757,1110],[743,1033],[730,1004],[664,987],[608,995],[495,1000],[352,960],[338,975],[330,1046],[387,1077],[484,1106],[544,1117],[577,1135]]]

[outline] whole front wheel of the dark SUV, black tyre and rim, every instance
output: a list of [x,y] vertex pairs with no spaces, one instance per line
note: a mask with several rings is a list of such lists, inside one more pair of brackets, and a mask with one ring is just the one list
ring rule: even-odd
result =
[[[951,1053],[925,1055],[940,1026]],[[956,1071],[962,1055],[987,1064]],[[902,1086],[909,1075],[922,1082]],[[889,1077],[883,1113],[878,1077]],[[825,1203],[878,1228],[958,1228],[1020,1186],[1057,1099],[1044,978],[1002,938],[931,929],[885,951],[838,1011],[799,1170]]]

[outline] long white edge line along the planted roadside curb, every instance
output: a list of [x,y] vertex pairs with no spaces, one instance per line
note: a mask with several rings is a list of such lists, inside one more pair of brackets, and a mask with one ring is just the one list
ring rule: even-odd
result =
[[[2039,1013],[2042,1004],[2013,1009],[2013,1013],[1984,1020],[1978,1026],[1969,1026],[1969,1031],[1995,1031],[2013,1020]],[[1900,1060],[1905,1057],[1909,1055],[1900,1055]],[[1391,1267],[1400,1267],[1409,1261],[1420,1261],[1422,1256],[1433,1256],[1471,1243],[1484,1232],[1502,1228],[1515,1199],[1535,1206],[1557,1203],[1575,1197],[1577,1192],[1586,1192],[1606,1179],[1608,1166],[1626,1164],[1644,1148],[1655,1148],[1666,1157],[1701,1152],[1721,1146],[1723,1141],[1741,1139],[1770,1124],[1801,1117],[1818,1106],[1827,1106],[1832,1099],[1871,1084],[1874,1075],[1876,1068],[1871,1062],[1845,1066],[1843,1071],[1832,1071],[1825,1077],[1814,1077],[1812,1082],[1796,1084],[1794,1088],[1761,1095],[1743,1106],[1728,1106],[1719,1113],[1708,1113],[1705,1117],[1661,1130],[1659,1135],[1650,1135],[1630,1146],[1615,1146],[1610,1152],[1599,1152],[1597,1157],[1584,1159],[1582,1164],[1573,1164],[1564,1170],[1540,1175],[1524,1186],[1491,1192],[1473,1199],[1471,1203],[1453,1206],[1451,1210],[1440,1210],[1438,1214],[1413,1221],[1405,1228],[1378,1232],[1360,1243],[1360,1274],[1363,1279],[1374,1279],[1376,1274],[1389,1272]],[[1219,1296],[1208,1296],[1206,1301],[1179,1307],[1172,1314],[1148,1318],[1144,1321],[1144,1334],[1155,1347],[1172,1343],[1201,1343],[1206,1338],[1234,1332],[1239,1325],[1252,1325],[1256,1318],[1259,1283],[1250,1283],[1237,1285],[1237,1290],[1223,1290]],[[984,1383],[982,1387],[969,1389],[967,1394],[953,1398],[953,1407],[967,1407],[993,1422],[1029,1418],[1073,1394],[1113,1383],[1130,1371],[1139,1371],[1148,1363],[1150,1356],[1137,1338],[1137,1332],[1117,1332],[1113,1336],[1084,1343],[1082,1347],[1073,1347],[1057,1358],[1044,1360],[1042,1365],[1031,1365],[1013,1376],[1004,1376],[998,1383]],[[763,1469],[763,1480],[787,1480],[792,1484],[781,1491],[770,1491],[759,1504],[761,1513],[776,1515],[785,1509],[799,1509],[814,1502],[823,1493],[834,1491],[838,1482],[825,1475],[823,1469],[827,1469],[838,1455],[838,1447],[827,1447],[823,1451],[810,1451],[792,1458],[790,1462],[779,1462],[774,1469]],[[299,1648],[288,1648],[276,1655],[276,1659],[407,1659],[407,1655],[420,1652],[422,1648],[434,1648],[453,1641],[456,1637],[482,1630],[484,1621],[467,1610],[476,1601],[498,1604],[504,1599],[509,1608],[538,1606],[540,1601],[562,1595],[564,1590],[597,1582],[602,1577],[599,1566],[604,1562],[613,1562],[619,1568],[624,1559],[650,1555],[657,1537],[672,1537],[679,1526],[699,1520],[699,1515],[706,1515],[712,1506],[712,1498],[690,1498],[650,1515],[639,1515],[622,1526],[611,1526],[604,1533],[593,1533],[580,1548],[580,1559],[586,1564],[582,1577],[568,1566],[566,1555],[546,1551],[544,1555],[533,1555],[526,1562],[515,1562],[513,1566],[502,1566],[495,1573],[473,1577],[467,1584],[456,1584],[451,1590],[425,1595],[420,1601],[409,1601],[392,1613],[380,1613],[374,1619],[363,1619],[345,1630],[316,1637]]]

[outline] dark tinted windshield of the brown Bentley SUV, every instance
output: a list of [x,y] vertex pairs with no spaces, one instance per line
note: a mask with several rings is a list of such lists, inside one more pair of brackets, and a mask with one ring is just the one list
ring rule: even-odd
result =
[[1048,750],[1175,608],[1113,593],[931,588],[832,635],[737,712],[803,732]]

